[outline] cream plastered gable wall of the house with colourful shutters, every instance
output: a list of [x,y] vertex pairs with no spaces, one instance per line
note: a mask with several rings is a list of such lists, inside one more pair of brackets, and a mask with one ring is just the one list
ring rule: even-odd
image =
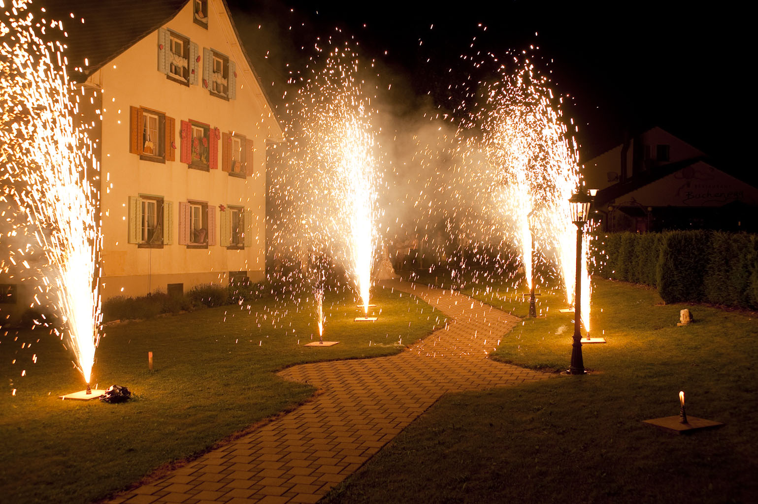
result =
[[[193,22],[193,5],[189,2],[163,28],[197,45],[197,84],[177,83],[158,69],[159,45],[164,41],[161,30],[118,55],[87,82],[102,89],[103,299],[165,291],[168,283],[183,283],[184,290],[198,283],[224,283],[229,271],[247,271],[252,280],[264,276],[265,142],[280,140],[283,133],[243,55],[224,5],[209,0],[207,30]],[[203,49],[210,48],[233,61],[234,99],[218,98],[203,86]],[[131,107],[153,109],[174,119],[174,161],[148,161],[130,152]],[[181,162],[180,123],[189,120],[209,124],[211,131],[218,127],[221,133],[239,133],[252,140],[250,176],[233,177],[221,169],[221,139],[216,153],[218,169],[202,171]],[[140,195],[162,196],[164,202],[171,203],[171,219],[167,221],[171,230],[164,233],[164,241],[170,244],[142,248],[129,243],[130,198]],[[215,238],[209,240],[207,248],[179,243],[180,203],[189,200],[207,202],[208,208],[215,208]],[[243,248],[227,249],[220,242],[221,222],[226,215],[221,205],[227,211],[230,205],[249,211],[252,225],[248,233],[252,236]],[[169,205],[164,208],[168,210]]]

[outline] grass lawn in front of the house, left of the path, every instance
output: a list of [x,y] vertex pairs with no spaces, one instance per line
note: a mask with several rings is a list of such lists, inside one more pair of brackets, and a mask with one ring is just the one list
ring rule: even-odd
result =
[[327,294],[324,338],[341,343],[304,347],[315,331],[318,340],[312,296],[310,302],[305,297],[299,307],[263,299],[250,306],[250,315],[247,306],[233,305],[107,327],[92,380],[101,388],[129,387],[134,399],[121,405],[56,399],[83,388],[61,342],[46,330],[3,336],[0,501],[92,502],[108,496],[314,393],[275,371],[316,360],[390,355],[431,333],[434,324],[431,308],[407,294],[377,289],[372,302],[381,315],[375,323],[352,321],[358,315],[352,296]]

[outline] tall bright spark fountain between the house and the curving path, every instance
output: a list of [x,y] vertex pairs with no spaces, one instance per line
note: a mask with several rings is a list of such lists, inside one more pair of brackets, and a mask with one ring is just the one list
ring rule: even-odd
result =
[[[374,111],[358,79],[359,61],[348,46],[331,51],[324,70],[299,92],[297,137],[288,159],[290,190],[300,195],[296,221],[302,243],[327,246],[345,268],[368,314],[371,269],[378,243]],[[297,189],[298,184],[307,187]],[[308,198],[305,195],[310,195]]]

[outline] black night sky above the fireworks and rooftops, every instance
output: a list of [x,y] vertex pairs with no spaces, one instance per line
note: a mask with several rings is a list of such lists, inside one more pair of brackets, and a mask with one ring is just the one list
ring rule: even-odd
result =
[[459,2],[453,10],[438,2],[228,2],[274,100],[286,89],[291,93],[287,71],[305,67],[318,36],[354,36],[363,59],[377,59],[384,90],[393,83],[382,98],[398,115],[449,111],[448,86],[463,83],[474,70],[462,54],[505,55],[535,45],[537,66],[553,70],[553,89],[574,97],[564,114],[579,125],[583,160],[619,144],[625,132],[656,125],[705,151],[725,171],[739,173],[747,158],[748,131],[734,119],[737,111],[753,109],[741,56],[747,35],[733,19],[741,14],[725,8],[684,11],[684,5],[650,2],[597,10],[573,2],[512,1]]

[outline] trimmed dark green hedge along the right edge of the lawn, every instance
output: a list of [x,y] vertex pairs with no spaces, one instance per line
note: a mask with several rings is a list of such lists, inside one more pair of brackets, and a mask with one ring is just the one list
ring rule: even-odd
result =
[[609,233],[594,274],[654,286],[665,302],[758,308],[758,236],[704,230]]

